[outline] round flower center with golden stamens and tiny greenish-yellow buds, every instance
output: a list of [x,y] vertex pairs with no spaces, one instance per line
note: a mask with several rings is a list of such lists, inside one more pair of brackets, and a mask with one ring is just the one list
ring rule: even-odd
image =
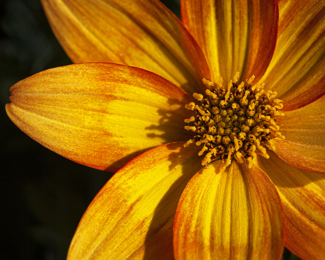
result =
[[227,90],[222,85],[222,77],[218,86],[202,79],[208,88],[205,91],[207,98],[194,93],[193,97],[201,101],[201,105],[194,102],[185,105],[196,113],[196,116],[184,120],[195,126],[185,126],[185,129],[197,135],[188,140],[184,147],[192,143],[203,144],[199,152],[200,156],[205,154],[202,165],[221,159],[223,169],[226,169],[231,159],[235,158],[237,162],[247,162],[251,168],[257,154],[269,158],[266,147],[275,149],[273,138],[285,138],[276,123],[276,118],[284,115],[279,112],[283,108],[282,100],[274,99],[277,92],[265,91],[265,83],[253,86],[254,75],[239,85],[238,77],[239,72],[229,82]]

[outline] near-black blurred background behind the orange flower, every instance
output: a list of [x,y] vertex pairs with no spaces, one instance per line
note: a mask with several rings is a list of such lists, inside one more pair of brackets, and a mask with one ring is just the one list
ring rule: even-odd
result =
[[[162,1],[178,17],[179,1]],[[46,149],[6,115],[9,88],[71,64],[39,0],[0,0],[1,259],[65,259],[86,207],[112,176]],[[298,259],[285,251],[284,259]]]

